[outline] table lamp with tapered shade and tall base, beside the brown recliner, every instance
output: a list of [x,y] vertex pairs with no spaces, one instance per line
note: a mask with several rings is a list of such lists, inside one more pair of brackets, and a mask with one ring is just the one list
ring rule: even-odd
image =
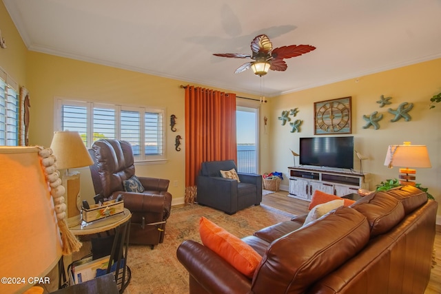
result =
[[69,169],[86,167],[93,165],[94,162],[79,132],[55,132],[50,149],[57,157],[57,168],[65,169],[62,180],[66,188],[64,197],[68,206],[66,222],[68,227],[74,227],[81,223],[80,173]]

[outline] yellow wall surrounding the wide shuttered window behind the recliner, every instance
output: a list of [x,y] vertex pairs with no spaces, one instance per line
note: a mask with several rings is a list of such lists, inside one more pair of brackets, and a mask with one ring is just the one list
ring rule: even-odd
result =
[[[42,54],[28,53],[27,85],[31,97],[30,143],[49,146],[54,132],[54,98],[80,99],[124,105],[165,107],[166,156],[165,164],[137,164],[138,176],[167,178],[173,204],[183,203],[185,193],[185,114],[182,81],[161,78],[96,65],[83,61]],[[219,90],[219,89],[216,89]],[[176,132],[170,131],[170,115],[176,115]],[[174,140],[181,135],[181,151]],[[94,190],[88,168],[81,171],[81,195],[92,201]],[[176,182],[176,187],[174,183]]]

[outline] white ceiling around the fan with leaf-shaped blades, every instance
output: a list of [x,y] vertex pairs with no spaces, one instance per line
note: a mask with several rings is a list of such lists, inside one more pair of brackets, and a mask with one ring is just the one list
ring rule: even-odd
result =
[[[265,96],[441,57],[441,0],[3,3],[29,50]],[[250,53],[258,34],[317,49],[263,79],[234,74],[247,59],[212,55]]]

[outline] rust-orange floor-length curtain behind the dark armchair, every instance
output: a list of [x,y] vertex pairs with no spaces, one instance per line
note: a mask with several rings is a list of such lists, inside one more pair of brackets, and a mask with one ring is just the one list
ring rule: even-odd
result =
[[204,161],[237,162],[236,94],[185,87],[185,203],[196,198]]

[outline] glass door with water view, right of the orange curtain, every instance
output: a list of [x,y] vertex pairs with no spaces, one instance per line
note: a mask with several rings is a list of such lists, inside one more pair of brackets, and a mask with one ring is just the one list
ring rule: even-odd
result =
[[238,106],[237,125],[237,167],[238,172],[258,174],[258,109]]

